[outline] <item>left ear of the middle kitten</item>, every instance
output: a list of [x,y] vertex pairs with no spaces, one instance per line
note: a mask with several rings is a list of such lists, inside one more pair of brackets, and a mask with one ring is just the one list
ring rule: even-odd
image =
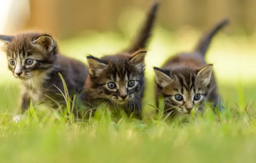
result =
[[92,76],[98,76],[107,67],[107,64],[102,63],[98,58],[93,56],[87,57],[87,63],[89,73]]

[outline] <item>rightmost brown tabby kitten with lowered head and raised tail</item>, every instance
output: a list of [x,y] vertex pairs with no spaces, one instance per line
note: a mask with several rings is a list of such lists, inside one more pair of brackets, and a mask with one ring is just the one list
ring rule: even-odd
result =
[[[205,54],[213,36],[226,24],[228,20],[222,20],[213,27],[201,38],[194,51],[171,57],[162,68],[154,67],[157,105],[158,97],[162,95],[165,98],[164,114],[202,112],[206,100],[217,106],[220,99],[212,73],[213,65],[207,65]],[[219,109],[222,110],[221,105]]]

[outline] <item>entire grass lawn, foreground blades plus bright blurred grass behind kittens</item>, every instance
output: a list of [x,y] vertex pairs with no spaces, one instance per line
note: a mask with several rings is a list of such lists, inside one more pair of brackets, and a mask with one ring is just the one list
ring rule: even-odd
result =
[[[191,49],[199,36],[195,30],[181,33],[160,27],[155,32],[146,58],[145,115],[154,110],[147,104],[155,105],[152,66],[161,65],[170,54]],[[113,54],[125,47],[128,39],[116,33],[91,32],[62,40],[60,45],[65,54],[85,61],[86,53]],[[141,122],[125,116],[114,121],[101,111],[88,123],[68,124],[52,109],[35,109],[31,118],[11,122],[18,108],[19,82],[7,70],[1,54],[0,163],[254,163],[254,45],[253,37],[216,36],[207,60],[214,65],[226,111],[216,116],[206,109],[204,117],[184,124],[157,118]]]

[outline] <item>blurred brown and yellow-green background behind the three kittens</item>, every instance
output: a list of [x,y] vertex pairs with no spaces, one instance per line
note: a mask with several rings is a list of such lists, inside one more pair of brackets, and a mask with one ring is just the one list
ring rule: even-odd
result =
[[[152,0],[0,0],[0,34],[26,30],[50,33],[61,53],[86,63],[87,54],[100,57],[126,48],[151,4]],[[255,0],[161,0],[148,45],[144,102],[155,104],[152,66],[161,66],[179,51],[192,50],[204,31],[229,18],[231,23],[213,39],[207,61],[214,64],[226,106],[253,104],[255,9]],[[8,71],[3,51],[0,69],[0,111],[12,112],[18,106],[19,81]]]

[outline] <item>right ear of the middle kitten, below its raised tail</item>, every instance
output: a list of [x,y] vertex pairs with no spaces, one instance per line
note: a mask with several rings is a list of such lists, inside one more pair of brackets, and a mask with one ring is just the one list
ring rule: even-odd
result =
[[145,50],[135,51],[133,54],[131,54],[130,62],[134,64],[140,72],[143,72],[145,70],[145,56]]

